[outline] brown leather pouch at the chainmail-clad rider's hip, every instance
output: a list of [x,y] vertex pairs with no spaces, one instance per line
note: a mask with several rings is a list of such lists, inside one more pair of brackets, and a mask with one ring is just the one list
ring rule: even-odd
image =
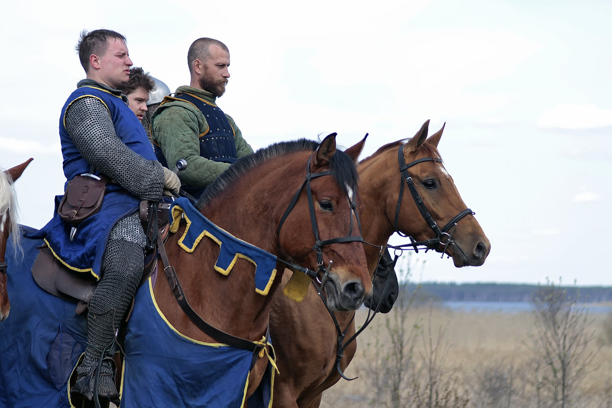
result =
[[102,207],[102,200],[106,191],[105,176],[81,174],[68,182],[64,198],[59,202],[58,213],[62,220],[72,225],[80,224]]

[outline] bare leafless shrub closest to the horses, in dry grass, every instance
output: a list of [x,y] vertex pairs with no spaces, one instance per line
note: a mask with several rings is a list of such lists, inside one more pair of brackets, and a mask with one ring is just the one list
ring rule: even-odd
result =
[[[403,257],[398,278],[407,283],[414,268],[411,256]],[[449,344],[444,341],[446,328],[433,334],[430,302],[427,333],[420,318],[409,319],[408,311],[416,298],[417,287],[411,295],[400,295],[393,310],[385,316],[386,341],[381,340],[383,324],[375,330],[373,341],[364,347],[363,372],[375,390],[371,407],[393,408],[465,408],[467,391],[453,371],[446,368]],[[419,345],[420,339],[420,347]]]

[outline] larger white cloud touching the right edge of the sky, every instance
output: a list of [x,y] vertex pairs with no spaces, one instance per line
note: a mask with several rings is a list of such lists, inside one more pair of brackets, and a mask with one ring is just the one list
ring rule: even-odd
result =
[[592,104],[557,105],[540,116],[538,126],[572,130],[612,126],[612,109],[601,109]]

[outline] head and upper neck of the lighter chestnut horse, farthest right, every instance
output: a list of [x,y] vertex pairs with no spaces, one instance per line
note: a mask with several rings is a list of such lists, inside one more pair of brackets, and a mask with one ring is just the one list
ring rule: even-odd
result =
[[[387,232],[399,231],[449,254],[456,267],[482,265],[491,244],[442,164],[438,143],[444,126],[427,138],[428,126],[429,121],[407,143],[387,144],[362,161],[362,187],[384,197],[380,218],[386,220]],[[370,182],[375,185],[366,187]]]

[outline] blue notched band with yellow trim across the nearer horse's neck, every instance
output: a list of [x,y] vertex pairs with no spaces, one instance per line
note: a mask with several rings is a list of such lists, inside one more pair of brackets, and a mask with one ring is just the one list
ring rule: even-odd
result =
[[219,257],[215,263],[215,270],[228,275],[238,258],[246,259],[255,265],[255,291],[267,295],[274,277],[276,276],[277,257],[248,242],[237,239],[229,232],[213,224],[204,217],[191,202],[184,197],[177,198],[171,207],[173,225],[170,231],[175,232],[181,221],[181,214],[185,216],[187,227],[179,245],[187,252],[193,252],[203,237],[209,237],[220,247]]

